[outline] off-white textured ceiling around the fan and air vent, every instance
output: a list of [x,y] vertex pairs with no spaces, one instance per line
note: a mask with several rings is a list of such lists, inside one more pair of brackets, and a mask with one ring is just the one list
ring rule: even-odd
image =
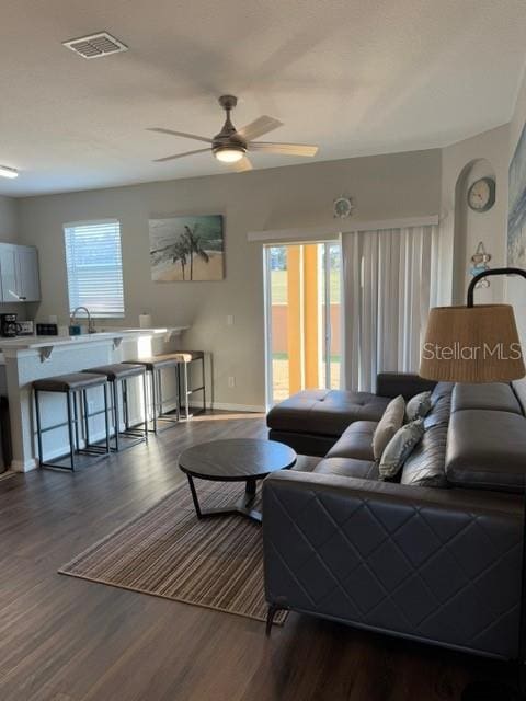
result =
[[[524,0],[2,0],[0,18],[14,196],[222,173],[208,153],[152,163],[199,146],[146,127],[211,136],[226,92],[237,126],[276,117],[263,139],[318,143],[315,160],[442,147],[510,120],[526,57]],[[103,30],[129,51],[61,46]]]

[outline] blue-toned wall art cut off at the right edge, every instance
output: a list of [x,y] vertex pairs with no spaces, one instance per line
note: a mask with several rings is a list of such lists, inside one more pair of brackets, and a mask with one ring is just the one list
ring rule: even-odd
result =
[[510,164],[507,265],[526,267],[526,125]]

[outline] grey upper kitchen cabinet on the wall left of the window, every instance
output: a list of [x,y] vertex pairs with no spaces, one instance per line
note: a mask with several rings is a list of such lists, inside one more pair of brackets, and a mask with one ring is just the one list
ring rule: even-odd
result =
[[39,301],[38,254],[34,246],[0,243],[0,287],[3,302]]

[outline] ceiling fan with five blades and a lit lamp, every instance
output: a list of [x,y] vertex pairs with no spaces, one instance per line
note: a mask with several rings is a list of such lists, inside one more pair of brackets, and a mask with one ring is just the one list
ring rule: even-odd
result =
[[148,131],[158,131],[159,134],[169,134],[171,136],[182,136],[196,141],[205,141],[209,143],[206,149],[197,149],[196,151],[186,151],[185,153],[176,153],[175,156],[165,156],[157,158],[156,163],[164,161],[173,161],[178,158],[194,156],[195,153],[205,153],[211,151],[218,161],[232,164],[237,172],[252,170],[252,163],[247,157],[247,152],[254,151],[260,153],[279,153],[281,156],[316,156],[317,146],[308,146],[306,143],[271,143],[267,141],[253,141],[264,134],[268,134],[273,129],[283,126],[278,119],[266,115],[254,119],[241,129],[236,129],[230,122],[230,112],[238,104],[235,95],[221,95],[219,104],[227,113],[227,118],[222,125],[222,129],[214,138],[206,136],[197,136],[196,134],[186,134],[185,131],[172,131],[172,129],[162,129],[161,127],[149,128]]

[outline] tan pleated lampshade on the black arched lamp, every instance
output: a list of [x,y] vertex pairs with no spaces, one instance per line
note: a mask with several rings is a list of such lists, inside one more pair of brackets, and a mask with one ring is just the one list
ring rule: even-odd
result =
[[430,311],[420,376],[448,382],[507,382],[526,374],[510,304]]

